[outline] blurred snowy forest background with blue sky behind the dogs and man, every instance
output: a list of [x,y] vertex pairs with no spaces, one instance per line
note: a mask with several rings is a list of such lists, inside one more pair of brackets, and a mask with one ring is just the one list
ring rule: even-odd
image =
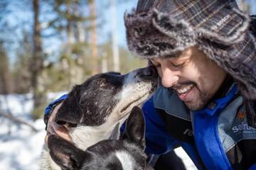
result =
[[[124,11],[136,4],[0,0],[0,170],[38,169],[47,103],[92,74],[146,66],[125,40]],[[255,0],[238,4],[256,13]],[[187,167],[195,169],[181,152]]]

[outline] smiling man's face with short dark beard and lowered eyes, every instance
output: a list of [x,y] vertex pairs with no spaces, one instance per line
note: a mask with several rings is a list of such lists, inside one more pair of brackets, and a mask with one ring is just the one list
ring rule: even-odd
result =
[[175,57],[152,59],[151,62],[159,72],[162,85],[174,89],[191,111],[204,108],[226,76],[225,71],[198,47],[189,47]]

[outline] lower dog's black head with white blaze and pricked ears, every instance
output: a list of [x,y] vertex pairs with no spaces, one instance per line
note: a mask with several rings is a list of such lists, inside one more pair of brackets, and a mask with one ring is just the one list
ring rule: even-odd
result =
[[144,134],[144,117],[140,108],[135,106],[119,140],[102,140],[83,151],[60,137],[50,135],[48,147],[50,156],[63,170],[151,170],[144,154]]

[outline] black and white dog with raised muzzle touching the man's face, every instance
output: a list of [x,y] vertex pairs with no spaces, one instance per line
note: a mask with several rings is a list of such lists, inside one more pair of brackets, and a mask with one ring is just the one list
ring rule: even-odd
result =
[[[76,85],[63,101],[55,122],[64,125],[75,147],[86,150],[101,140],[108,140],[114,128],[124,123],[134,106],[142,106],[157,86],[158,74],[153,66],[128,74],[96,74]],[[43,147],[41,169],[60,169]]]

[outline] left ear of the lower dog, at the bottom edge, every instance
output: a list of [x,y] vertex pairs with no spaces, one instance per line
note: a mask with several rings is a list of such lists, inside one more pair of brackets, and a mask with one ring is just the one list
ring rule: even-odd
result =
[[80,169],[85,160],[92,159],[90,153],[83,152],[57,135],[48,137],[48,148],[50,149],[50,157],[61,169]]

